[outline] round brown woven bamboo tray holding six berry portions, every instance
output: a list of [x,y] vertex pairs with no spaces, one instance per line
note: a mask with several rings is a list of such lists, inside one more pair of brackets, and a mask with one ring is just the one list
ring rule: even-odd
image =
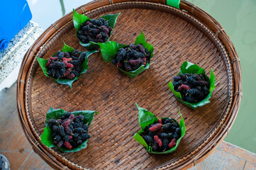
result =
[[[241,71],[237,52],[221,25],[187,1],[180,9],[165,0],[99,0],[76,9],[89,18],[119,13],[111,40],[129,44],[143,30],[154,48],[150,69],[130,79],[100,53],[89,57],[89,69],[73,89],[45,77],[35,60],[60,50],[63,41],[82,51],[75,38],[72,13],[54,23],[26,53],[18,75],[17,104],[23,130],[30,144],[55,169],[182,169],[205,159],[228,134],[241,99]],[[168,82],[188,60],[216,75],[211,103],[195,111],[182,105],[168,89]],[[135,102],[159,118],[180,120],[187,132],[173,154],[150,155],[133,140],[140,130]],[[87,149],[63,154],[40,142],[45,114],[50,107],[66,111],[98,111],[90,126]]]

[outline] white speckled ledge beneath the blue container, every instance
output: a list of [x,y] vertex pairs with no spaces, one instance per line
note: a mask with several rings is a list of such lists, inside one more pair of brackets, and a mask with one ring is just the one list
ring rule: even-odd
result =
[[0,91],[16,82],[24,55],[42,33],[43,28],[30,21],[0,52]]

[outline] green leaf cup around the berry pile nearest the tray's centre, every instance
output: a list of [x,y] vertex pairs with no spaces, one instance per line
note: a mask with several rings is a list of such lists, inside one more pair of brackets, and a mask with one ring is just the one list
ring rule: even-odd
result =
[[[101,47],[101,56],[103,57],[105,62],[111,62],[116,57],[116,54],[120,48],[129,46],[129,45],[118,44],[115,41],[108,41],[108,42],[98,43],[98,44]],[[135,40],[135,45],[137,44],[142,44],[143,47],[148,49],[148,51],[151,51],[151,55],[150,55],[150,60],[151,60],[151,58],[153,57],[154,47],[150,45],[150,43],[145,42],[145,36],[143,35],[142,31]],[[120,69],[121,72],[126,74],[128,77],[133,78],[138,74],[144,72],[149,67],[150,67],[150,63],[147,63],[146,65],[143,64],[138,69],[135,69],[131,72],[126,72],[121,68],[118,68],[118,69]]]

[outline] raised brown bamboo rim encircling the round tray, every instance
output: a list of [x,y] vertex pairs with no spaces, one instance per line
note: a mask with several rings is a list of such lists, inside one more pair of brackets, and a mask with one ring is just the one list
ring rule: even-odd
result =
[[[128,1],[118,1],[116,3],[122,3],[122,2],[126,3]],[[130,1],[130,2],[131,3],[152,3],[152,1],[151,2]],[[159,3],[158,1],[157,2],[153,1],[153,2]],[[165,1],[160,2],[160,3],[165,4]],[[106,6],[108,4],[113,4],[113,1],[109,1],[109,2],[104,1],[104,0],[103,1],[100,1],[100,0],[92,1],[89,4],[80,6],[79,8],[76,9],[76,11],[79,11],[79,13],[85,13],[87,11],[92,11],[95,8],[100,8],[101,6]],[[164,5],[162,5],[162,6],[164,6]],[[159,169],[172,169],[172,168],[177,168],[177,167],[188,168],[189,166],[196,165],[201,160],[205,159],[208,156],[208,154],[210,154],[213,151],[213,149],[216,148],[218,146],[218,144],[220,144],[220,142],[223,140],[223,138],[226,137],[226,135],[228,135],[228,132],[229,132],[231,126],[233,125],[235,117],[238,113],[238,109],[240,106],[240,100],[241,100],[241,96],[242,96],[242,93],[241,93],[241,88],[242,88],[241,69],[240,69],[239,58],[238,58],[237,52],[235,51],[235,47],[233,46],[233,43],[230,41],[230,38],[228,38],[228,35],[226,35],[225,30],[223,30],[221,25],[214,18],[209,16],[208,13],[205,13],[200,8],[194,6],[193,4],[190,4],[187,1],[181,1],[180,8],[182,11],[187,11],[189,13],[189,15],[193,15],[194,17],[199,18],[204,23],[206,23],[204,21],[204,19],[206,19],[206,21],[210,22],[211,24],[214,23],[213,24],[214,27],[211,27],[211,24],[209,24],[208,29],[210,29],[213,33],[216,33],[219,40],[221,40],[223,45],[226,47],[226,50],[228,51],[228,57],[230,57],[229,60],[233,66],[233,70],[231,70],[231,72],[233,73],[233,79],[234,79],[233,80],[234,84],[230,84],[230,86],[231,85],[233,86],[234,93],[230,94],[230,97],[232,98],[232,102],[231,102],[230,110],[228,111],[230,113],[229,118],[226,118],[225,127],[223,127],[223,129],[220,132],[218,132],[220,135],[218,135],[218,137],[214,141],[209,142],[204,147],[204,148],[208,147],[208,149],[205,149],[203,152],[201,152],[201,154],[195,155],[195,157],[191,157],[191,159],[187,162],[177,163],[175,165],[170,165],[170,166],[163,166],[163,167],[159,167]],[[190,11],[188,9],[190,9]],[[175,10],[177,10],[177,9],[175,8]],[[198,12],[198,13],[196,14],[196,12]],[[63,18],[65,18],[65,20],[63,20]],[[45,30],[45,32],[40,36],[40,38],[38,38],[38,40],[36,40],[34,42],[34,44],[30,47],[30,49],[26,53],[25,57],[23,58],[21,69],[20,69],[20,72],[18,75],[17,106],[18,106],[18,115],[21,120],[21,125],[23,127],[23,131],[25,132],[25,135],[28,138],[30,145],[33,146],[33,149],[35,150],[35,152],[37,152],[40,155],[40,157],[42,157],[45,160],[45,162],[50,164],[50,166],[52,166],[55,169],[65,169],[66,166],[69,166],[69,168],[73,169],[75,166],[74,163],[70,164],[70,162],[65,159],[56,159],[55,157],[52,156],[52,154],[49,154],[50,152],[52,152],[51,149],[45,147],[44,145],[42,146],[40,144],[40,142],[38,142],[36,140],[37,137],[35,137],[35,134],[30,129],[30,125],[32,123],[27,118],[28,111],[26,110],[26,107],[25,107],[26,106],[26,102],[25,102],[26,98],[24,98],[26,96],[25,89],[29,84],[29,82],[27,82],[26,80],[28,79],[27,73],[28,73],[28,69],[30,66],[27,68],[26,65],[28,63],[30,63],[30,64],[33,63],[33,58],[31,58],[31,56],[35,55],[43,48],[43,47],[41,47],[41,45],[45,44],[45,42],[47,42],[52,36],[54,36],[56,30],[60,29],[62,26],[65,26],[65,24],[66,24],[65,21],[70,21],[70,19],[72,18],[72,13],[68,13],[63,18],[60,18],[60,20],[56,21],[54,24],[52,24],[52,26],[50,26],[47,30]],[[202,19],[202,18],[204,18],[204,19]],[[214,30],[215,28],[217,30]],[[77,166],[77,167],[82,169],[81,166],[80,167]]]

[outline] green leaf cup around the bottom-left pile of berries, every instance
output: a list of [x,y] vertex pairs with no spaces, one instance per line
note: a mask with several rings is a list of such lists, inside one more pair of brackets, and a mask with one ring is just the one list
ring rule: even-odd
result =
[[[65,111],[63,109],[54,109],[54,108],[50,108],[48,113],[46,113],[46,119],[45,119],[46,127],[44,129],[43,135],[41,135],[41,142],[44,145],[46,145],[48,147],[57,147],[57,145],[55,145],[52,141],[52,130],[50,130],[48,122],[52,118],[55,120],[59,119],[65,113],[67,113],[67,111]],[[88,123],[88,125],[91,125],[91,122],[94,119],[95,113],[98,113],[98,112],[96,112],[96,111],[74,111],[74,112],[72,112],[72,114],[74,114],[74,115],[84,115],[84,123]],[[87,147],[87,142],[88,142],[88,140],[84,141],[81,145],[79,145],[78,147],[76,147],[74,149],[65,149],[62,147],[57,147],[57,148],[65,153],[78,152],[79,150]]]

